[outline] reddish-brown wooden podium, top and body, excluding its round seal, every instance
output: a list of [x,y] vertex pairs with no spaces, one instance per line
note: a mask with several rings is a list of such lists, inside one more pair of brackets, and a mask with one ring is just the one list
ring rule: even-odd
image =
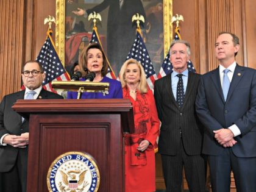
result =
[[96,160],[98,191],[124,191],[123,131],[134,129],[129,99],[18,100],[13,109],[29,118],[27,191],[48,191],[51,163],[72,151]]

